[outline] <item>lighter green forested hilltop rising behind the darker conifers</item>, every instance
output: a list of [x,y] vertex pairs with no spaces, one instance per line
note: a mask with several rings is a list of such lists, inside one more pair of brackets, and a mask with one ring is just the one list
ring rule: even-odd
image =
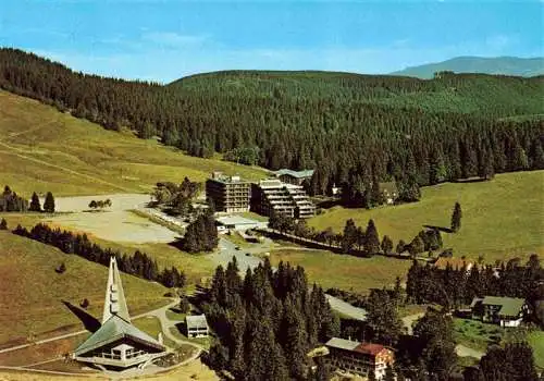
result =
[[494,116],[540,113],[544,77],[458,74],[423,81],[337,72],[225,71],[188,76],[168,87],[181,93],[284,101],[319,99],[334,105],[371,103]]

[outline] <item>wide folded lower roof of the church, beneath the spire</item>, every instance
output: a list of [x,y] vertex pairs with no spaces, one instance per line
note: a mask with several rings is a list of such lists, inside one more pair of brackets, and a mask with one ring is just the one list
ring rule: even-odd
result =
[[160,351],[164,349],[164,346],[157,340],[114,315],[106,323],[103,323],[98,331],[92,333],[89,339],[83,342],[83,344],[75,349],[75,355],[83,355],[87,352],[125,337],[152,346]]

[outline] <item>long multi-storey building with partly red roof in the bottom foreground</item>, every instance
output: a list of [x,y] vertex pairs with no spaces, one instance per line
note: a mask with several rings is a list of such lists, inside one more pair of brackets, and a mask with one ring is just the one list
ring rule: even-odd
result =
[[327,362],[336,369],[368,377],[372,371],[376,380],[385,377],[385,369],[395,362],[393,351],[381,344],[360,343],[333,337],[326,342]]

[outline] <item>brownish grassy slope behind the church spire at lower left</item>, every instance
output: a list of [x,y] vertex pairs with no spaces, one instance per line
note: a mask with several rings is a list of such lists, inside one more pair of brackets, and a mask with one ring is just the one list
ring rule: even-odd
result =
[[[101,319],[107,267],[10,232],[0,232],[0,344],[82,330],[63,300],[79,306],[87,298],[87,312]],[[61,262],[66,271],[58,274]],[[162,285],[126,274],[122,280],[131,315],[168,303]]]

